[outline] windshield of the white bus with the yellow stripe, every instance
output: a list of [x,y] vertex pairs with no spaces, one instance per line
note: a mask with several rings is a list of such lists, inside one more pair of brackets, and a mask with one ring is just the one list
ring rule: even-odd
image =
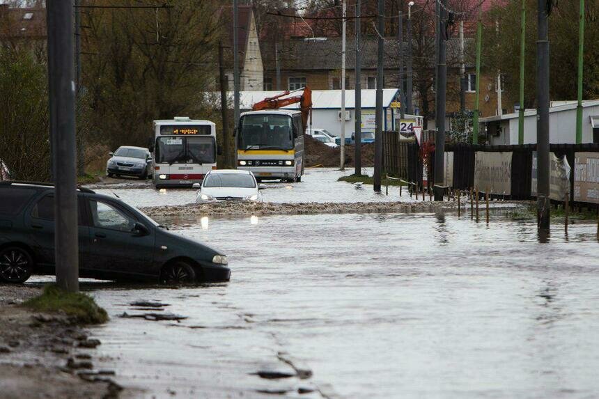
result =
[[292,150],[293,144],[290,116],[250,114],[242,118],[240,150]]

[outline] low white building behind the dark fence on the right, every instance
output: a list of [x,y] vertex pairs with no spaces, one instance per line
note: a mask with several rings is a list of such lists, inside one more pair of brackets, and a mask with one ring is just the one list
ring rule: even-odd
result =
[[[553,102],[549,109],[550,143],[576,143],[576,102]],[[599,100],[582,103],[582,143],[599,143]],[[490,145],[518,144],[518,114],[481,118]],[[536,109],[524,111],[524,144],[536,143]]]

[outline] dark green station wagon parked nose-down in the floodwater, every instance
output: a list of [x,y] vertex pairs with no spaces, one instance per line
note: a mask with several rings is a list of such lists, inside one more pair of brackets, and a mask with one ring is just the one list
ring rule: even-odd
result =
[[[226,256],[164,226],[117,198],[77,191],[79,276],[195,283],[228,281]],[[55,274],[54,187],[0,182],[0,281]]]

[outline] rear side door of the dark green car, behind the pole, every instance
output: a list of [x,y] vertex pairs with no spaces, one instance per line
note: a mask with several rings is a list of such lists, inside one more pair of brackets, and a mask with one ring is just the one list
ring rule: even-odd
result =
[[[77,196],[77,224],[79,230],[79,269],[86,269],[89,251],[89,227],[86,223],[84,198]],[[25,225],[31,232],[37,261],[48,272],[54,272],[54,194],[48,193],[36,200],[25,213]]]

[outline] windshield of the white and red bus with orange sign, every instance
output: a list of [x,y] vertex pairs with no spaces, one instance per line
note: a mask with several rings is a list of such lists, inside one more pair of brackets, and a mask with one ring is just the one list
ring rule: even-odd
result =
[[160,136],[155,156],[157,164],[214,164],[215,139],[207,136]]

